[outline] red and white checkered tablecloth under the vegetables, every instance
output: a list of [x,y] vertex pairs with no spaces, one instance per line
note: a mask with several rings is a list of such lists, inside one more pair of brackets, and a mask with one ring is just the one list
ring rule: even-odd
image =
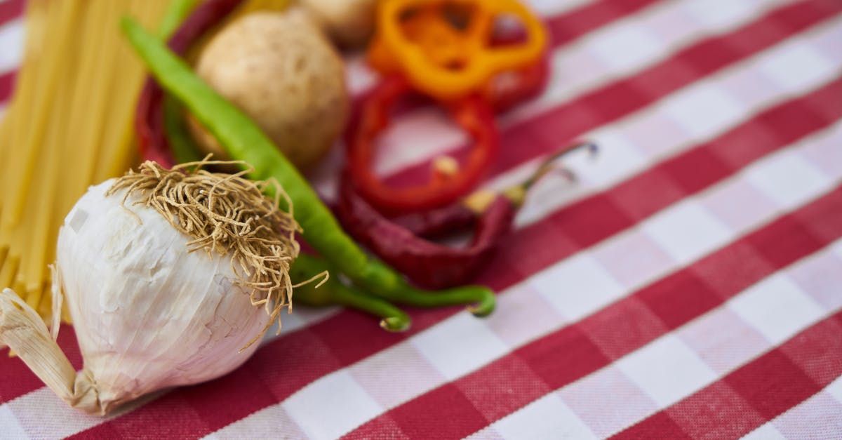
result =
[[[492,316],[412,310],[390,334],[298,308],[237,371],[107,418],[0,356],[0,437],[842,438],[842,2],[530,3],[552,81],[499,115],[484,185],[574,138],[601,151],[530,194],[478,280]],[[0,0],[0,102],[22,9]],[[348,67],[354,93],[376,82]],[[413,109],[376,169],[411,180],[465,143]],[[314,177],[328,199],[341,160]]]

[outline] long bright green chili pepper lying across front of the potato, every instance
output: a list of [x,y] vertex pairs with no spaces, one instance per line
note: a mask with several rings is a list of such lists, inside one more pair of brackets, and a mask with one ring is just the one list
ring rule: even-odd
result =
[[307,243],[356,285],[396,303],[438,307],[453,304],[458,298],[459,303],[474,304],[469,306],[473,314],[482,316],[493,311],[495,298],[488,287],[424,291],[408,285],[389,266],[371,260],[339,227],[336,218],[295,166],[247,115],[205,84],[179,56],[168,50],[163,41],[148,33],[135,20],[125,18],[121,26],[162,87],[182,101],[196,119],[216,136],[232,158],[253,164],[249,177],[254,180],[274,179],[280,183],[290,196],[295,208],[293,214],[304,230]]

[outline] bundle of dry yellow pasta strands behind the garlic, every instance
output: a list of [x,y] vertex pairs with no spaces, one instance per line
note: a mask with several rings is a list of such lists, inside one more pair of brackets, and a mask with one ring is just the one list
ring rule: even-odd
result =
[[145,71],[120,16],[156,25],[167,4],[27,2],[24,60],[0,126],[0,287],[44,316],[64,216],[88,185],[136,165],[131,117]]

